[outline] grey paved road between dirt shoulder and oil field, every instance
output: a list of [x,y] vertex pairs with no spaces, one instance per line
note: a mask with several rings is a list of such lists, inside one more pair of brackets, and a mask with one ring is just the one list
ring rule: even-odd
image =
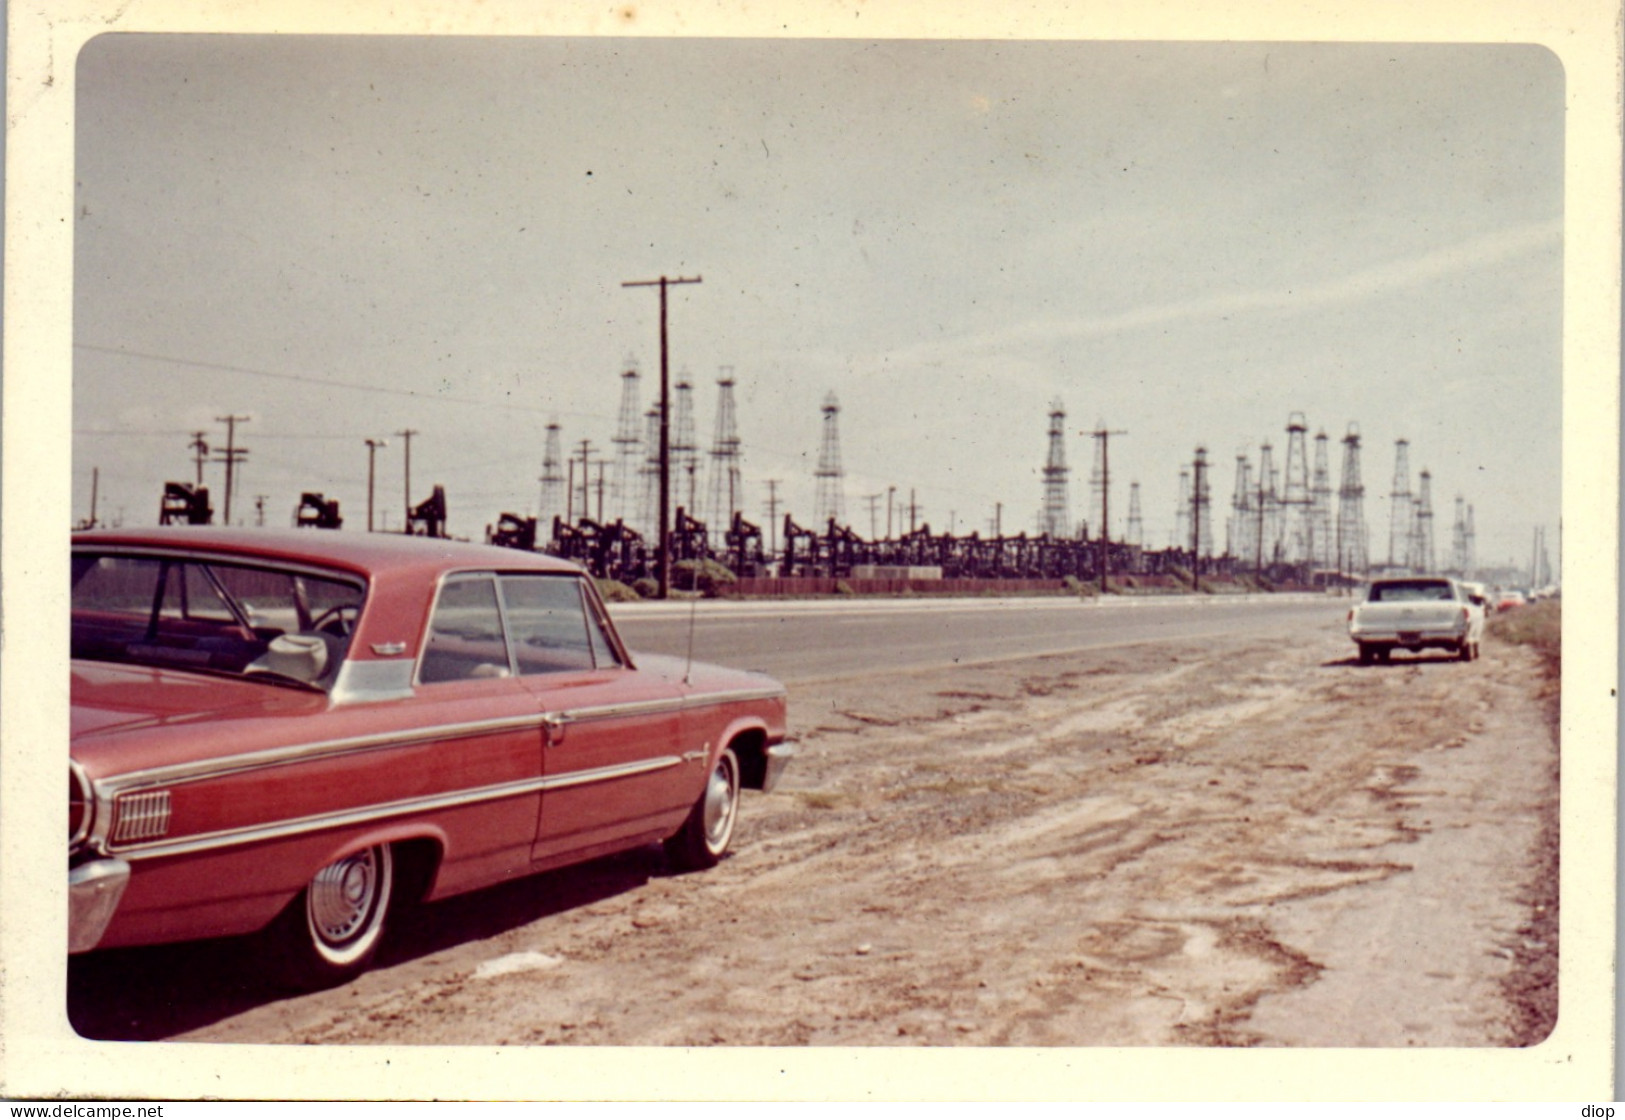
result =
[[613,608],[632,650],[692,653],[700,662],[756,668],[786,683],[1217,634],[1298,632],[1346,611],[1347,600],[1320,595],[700,601]]

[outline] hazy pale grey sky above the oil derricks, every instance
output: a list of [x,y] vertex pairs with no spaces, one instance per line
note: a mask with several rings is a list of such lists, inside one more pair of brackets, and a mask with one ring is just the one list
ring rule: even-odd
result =
[[1061,402],[1074,522],[1086,432],[1121,432],[1113,536],[1138,481],[1170,543],[1198,445],[1222,517],[1237,455],[1282,467],[1302,413],[1334,489],[1358,428],[1373,559],[1406,439],[1441,561],[1461,496],[1480,562],[1539,527],[1557,562],[1540,47],[109,34],[76,114],[76,522],[96,471],[102,523],[154,523],[192,434],[249,416],[234,522],[320,491],[364,527],[387,439],[398,528],[411,429],[413,501],[444,484],[479,538],[538,512],[549,423],[613,457],[629,362],[653,403],[658,297],[624,284],[665,275],[700,278],[671,377],[702,450],[736,380],[764,533],[770,494],[814,522],[829,393],[861,535],[887,491],[936,532],[1034,532]]

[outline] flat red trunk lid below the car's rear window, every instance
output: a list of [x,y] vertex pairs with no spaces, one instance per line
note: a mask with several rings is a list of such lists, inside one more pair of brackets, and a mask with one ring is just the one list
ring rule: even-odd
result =
[[263,681],[107,662],[73,662],[75,743],[156,727],[322,710],[327,696]]

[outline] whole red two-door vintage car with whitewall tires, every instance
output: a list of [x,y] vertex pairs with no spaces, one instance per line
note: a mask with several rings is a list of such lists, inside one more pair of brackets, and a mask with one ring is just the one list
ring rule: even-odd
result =
[[73,536],[70,951],[263,931],[665,842],[718,862],[791,754],[772,678],[630,653],[564,561],[325,530]]

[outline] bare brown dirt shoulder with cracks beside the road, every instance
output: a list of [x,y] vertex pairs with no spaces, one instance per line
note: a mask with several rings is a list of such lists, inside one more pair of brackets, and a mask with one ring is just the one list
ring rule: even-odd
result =
[[[1350,653],[1328,621],[798,686],[801,754],[713,871],[635,852],[426,907],[356,983],[249,990],[166,1035],[1539,1040],[1557,751],[1536,653]],[[109,1031],[119,998],[98,993]]]

